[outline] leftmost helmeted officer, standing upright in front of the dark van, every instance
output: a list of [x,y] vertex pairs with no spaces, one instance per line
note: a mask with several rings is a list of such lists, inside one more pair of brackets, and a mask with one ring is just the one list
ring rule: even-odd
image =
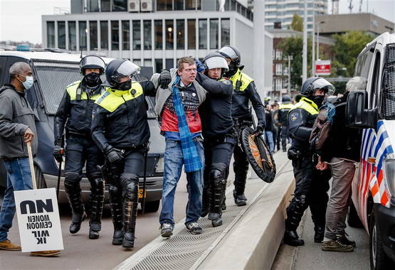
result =
[[97,166],[103,162],[102,153],[90,136],[93,104],[102,93],[100,75],[105,62],[95,55],[80,60],[83,80],[68,85],[53,119],[55,148],[53,156],[58,162],[63,158],[63,130],[65,129],[65,192],[70,202],[70,233],[80,230],[86,217],[80,195],[80,180],[86,162],[86,175],[90,181],[91,213],[89,238],[97,239],[101,229],[101,216],[104,200],[104,181]]

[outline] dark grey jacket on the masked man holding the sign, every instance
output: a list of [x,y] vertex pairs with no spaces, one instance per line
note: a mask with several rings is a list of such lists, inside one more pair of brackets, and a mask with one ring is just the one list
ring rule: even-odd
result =
[[33,155],[37,153],[37,131],[33,109],[22,93],[12,85],[0,88],[0,158],[25,158],[28,156],[23,139],[26,129],[34,133]]

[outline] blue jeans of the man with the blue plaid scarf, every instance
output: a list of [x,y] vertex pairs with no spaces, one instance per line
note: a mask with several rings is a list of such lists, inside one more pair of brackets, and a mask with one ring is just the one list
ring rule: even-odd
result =
[[[194,144],[201,158],[201,163],[204,164],[203,144],[201,144],[200,141],[195,141]],[[162,211],[159,217],[161,225],[164,222],[174,225],[174,193],[176,192],[177,183],[181,177],[183,164],[184,157],[182,156],[181,141],[166,139],[166,150],[164,151]],[[197,220],[199,220],[201,212],[201,195],[203,193],[204,186],[203,171],[204,168],[201,168],[199,171],[186,173],[189,196],[188,203],[186,204],[185,224],[197,222]]]

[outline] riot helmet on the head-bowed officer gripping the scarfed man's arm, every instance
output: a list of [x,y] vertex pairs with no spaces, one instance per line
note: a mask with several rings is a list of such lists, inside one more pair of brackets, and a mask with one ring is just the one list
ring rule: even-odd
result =
[[[105,78],[112,89],[129,90],[130,87],[127,86],[132,84],[132,77],[138,78],[140,69],[138,65],[130,62],[130,60],[115,59],[107,65]],[[128,77],[128,80],[125,81],[123,78],[126,77]]]

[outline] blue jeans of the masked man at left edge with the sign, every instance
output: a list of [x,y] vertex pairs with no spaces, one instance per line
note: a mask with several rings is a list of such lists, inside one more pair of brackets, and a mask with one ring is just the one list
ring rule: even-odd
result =
[[31,171],[28,158],[15,158],[4,161],[7,170],[7,188],[0,212],[0,242],[7,239],[15,215],[14,190],[31,190]]

